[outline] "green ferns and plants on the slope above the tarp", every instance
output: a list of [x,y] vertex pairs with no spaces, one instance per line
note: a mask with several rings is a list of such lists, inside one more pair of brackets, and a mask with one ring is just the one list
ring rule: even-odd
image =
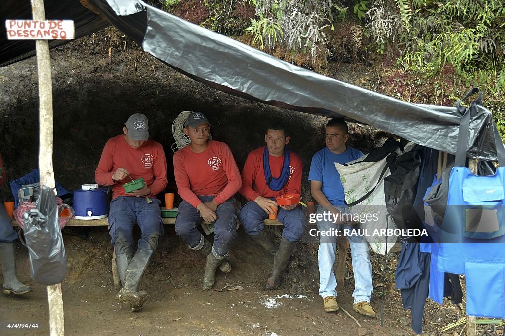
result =
[[[382,92],[452,104],[472,86],[505,134],[503,0],[165,0],[164,9],[316,70],[377,65]],[[190,16],[192,15],[192,16]],[[385,67],[384,65],[388,65]]]

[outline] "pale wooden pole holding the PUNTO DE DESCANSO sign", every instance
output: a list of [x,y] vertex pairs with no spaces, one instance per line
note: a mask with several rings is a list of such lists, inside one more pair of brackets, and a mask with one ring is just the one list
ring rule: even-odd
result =
[[[33,20],[44,21],[45,9],[43,0],[31,0]],[[36,40],[38,90],[40,99],[40,149],[39,170],[41,185],[54,188],[53,171],[53,87],[51,78],[51,59],[47,40]],[[63,315],[63,297],[61,284],[47,286],[49,304],[49,332],[53,335],[65,334]]]

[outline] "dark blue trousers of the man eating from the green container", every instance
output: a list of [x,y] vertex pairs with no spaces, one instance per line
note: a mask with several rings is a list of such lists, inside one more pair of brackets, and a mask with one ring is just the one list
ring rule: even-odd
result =
[[164,229],[161,219],[159,199],[150,197],[119,196],[111,202],[109,230],[116,255],[128,253],[133,255],[133,226],[135,221],[140,227],[139,250],[156,251],[158,242],[163,238]]

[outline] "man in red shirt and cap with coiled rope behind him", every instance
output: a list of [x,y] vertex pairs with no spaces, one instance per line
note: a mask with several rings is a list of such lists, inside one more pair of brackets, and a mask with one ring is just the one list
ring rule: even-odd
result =
[[[207,255],[203,288],[211,289],[219,267],[230,272],[225,259],[237,237],[237,212],[233,195],[241,186],[240,172],[230,148],[208,140],[211,125],[207,117],[192,112],[184,123],[191,143],[174,154],[177,193],[183,201],[175,218],[175,232],[190,249]],[[197,223],[214,223],[214,244],[198,231]]]

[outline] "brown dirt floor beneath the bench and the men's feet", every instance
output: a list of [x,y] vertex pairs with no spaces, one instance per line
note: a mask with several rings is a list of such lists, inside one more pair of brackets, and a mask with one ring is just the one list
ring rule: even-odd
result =
[[[272,257],[240,230],[230,256],[233,270],[219,273],[213,290],[201,289],[204,257],[184,246],[166,226],[166,237],[150,263],[142,282],[149,299],[141,312],[116,299],[118,290],[112,281],[112,246],[106,228],[93,228],[87,239],[77,236],[75,228],[64,229],[68,273],[62,284],[65,332],[77,335],[352,335],[358,325],[344,312],[325,313],[317,295],[317,245],[299,244],[287,276],[275,291],[265,291],[263,284],[271,269]],[[269,231],[275,235],[280,228]],[[29,276],[27,251],[18,246],[18,274],[33,286],[22,298],[0,296],[0,334],[48,334],[48,309],[45,287],[33,284]],[[394,259],[395,254],[390,258]],[[410,314],[401,307],[398,290],[387,285],[395,260],[386,268],[384,326],[381,327],[382,256],[374,258],[372,306],[377,318],[366,318],[352,311],[352,272],[348,270],[339,305],[370,335],[411,335]],[[350,263],[350,260],[349,260]],[[1,278],[0,278],[1,279]],[[461,317],[455,308],[442,312],[429,304],[427,319]],[[429,310],[435,310],[429,313]],[[449,314],[447,314],[449,313]],[[37,329],[10,329],[7,323],[38,323]],[[428,320],[425,334],[437,334]],[[438,322],[438,321],[433,321]],[[436,323],[438,325],[438,323]]]

